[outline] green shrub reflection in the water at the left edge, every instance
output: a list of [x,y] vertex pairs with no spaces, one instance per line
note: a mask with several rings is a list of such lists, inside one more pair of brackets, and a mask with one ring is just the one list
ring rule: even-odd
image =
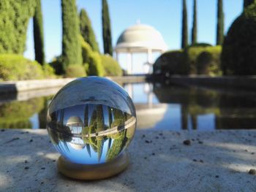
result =
[[0,107],[0,128],[31,128],[29,118],[42,108],[42,98],[2,104]]

